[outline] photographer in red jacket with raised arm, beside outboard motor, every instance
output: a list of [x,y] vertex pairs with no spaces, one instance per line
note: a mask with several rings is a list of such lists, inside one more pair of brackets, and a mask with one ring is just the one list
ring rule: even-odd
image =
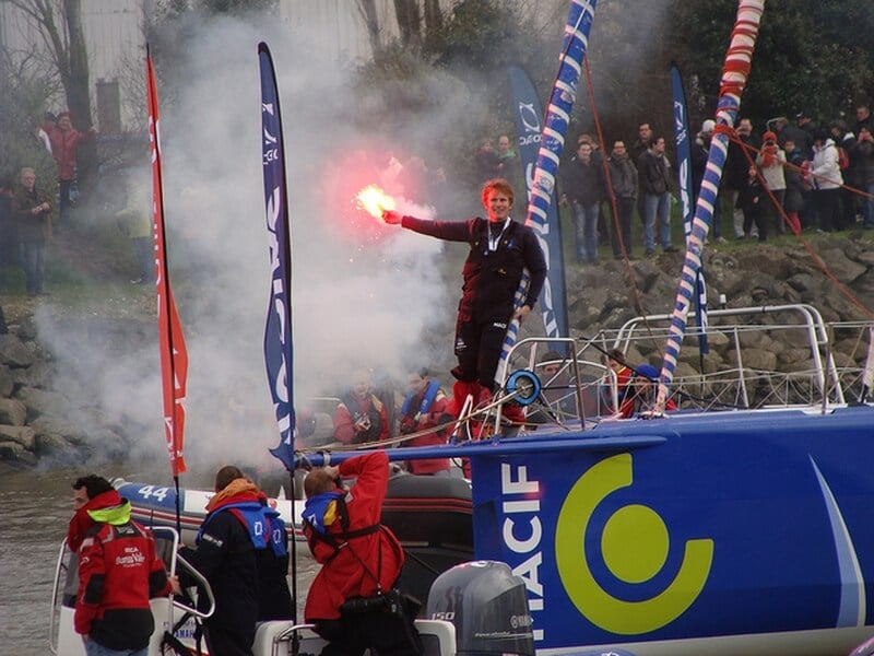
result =
[[[351,488],[342,479],[355,478]],[[329,641],[322,656],[422,653],[413,624],[416,609],[397,599],[404,553],[379,523],[389,480],[389,459],[378,450],[338,467],[314,469],[304,480],[304,532],[322,567],[309,586],[304,617]]]

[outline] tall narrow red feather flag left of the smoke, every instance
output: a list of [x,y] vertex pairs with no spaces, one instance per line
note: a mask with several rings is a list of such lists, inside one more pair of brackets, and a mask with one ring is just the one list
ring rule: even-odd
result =
[[161,383],[164,396],[164,430],[173,476],[186,470],[182,450],[185,395],[188,380],[188,350],[173,298],[167,271],[164,227],[164,192],[161,180],[158,147],[157,89],[152,56],[146,51],[146,93],[149,95],[149,141],[152,145],[152,219],[155,234],[155,280],[157,292],[157,332],[161,348]]

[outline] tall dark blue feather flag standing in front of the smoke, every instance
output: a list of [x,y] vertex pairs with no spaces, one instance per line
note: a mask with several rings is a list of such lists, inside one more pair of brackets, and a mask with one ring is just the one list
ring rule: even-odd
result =
[[276,74],[267,44],[258,44],[261,71],[261,165],[270,235],[270,304],[264,328],[264,364],[273,398],[280,444],[270,453],[294,469],[294,382],[292,373],[292,246],[285,188],[285,152]]

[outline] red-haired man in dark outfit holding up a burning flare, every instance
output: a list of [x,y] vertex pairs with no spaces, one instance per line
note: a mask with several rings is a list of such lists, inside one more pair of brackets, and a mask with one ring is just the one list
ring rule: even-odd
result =
[[[510,184],[500,178],[488,180],[483,187],[482,201],[487,220],[425,221],[402,216],[393,210],[382,212],[386,223],[448,242],[466,242],[471,247],[462,270],[464,284],[456,324],[459,364],[452,375],[459,382],[452,396],[459,407],[469,394],[477,399],[481,387],[495,390],[495,370],[507,326],[513,318],[520,323],[525,319],[546,280],[546,259],[538,236],[530,227],[510,219],[513,201]],[[516,309],[513,296],[523,269],[529,270],[531,281],[524,303]]]

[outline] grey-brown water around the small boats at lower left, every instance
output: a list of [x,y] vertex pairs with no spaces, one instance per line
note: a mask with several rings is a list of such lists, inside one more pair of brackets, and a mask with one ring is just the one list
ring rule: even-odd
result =
[[[0,465],[0,654],[50,656],[51,586],[72,516],[70,483],[90,471],[3,471]],[[121,476],[123,471],[101,472]],[[140,480],[164,480],[154,475]],[[318,565],[298,555],[298,618]]]

